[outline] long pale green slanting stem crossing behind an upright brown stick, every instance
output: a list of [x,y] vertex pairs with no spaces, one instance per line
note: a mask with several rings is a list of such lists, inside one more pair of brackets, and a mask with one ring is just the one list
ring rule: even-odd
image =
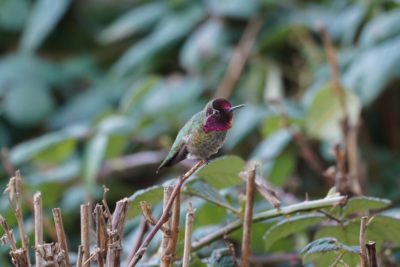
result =
[[[343,202],[346,201],[346,199],[347,198],[345,196],[328,197],[328,198],[323,198],[323,199],[318,199],[318,200],[304,201],[304,202],[293,204],[290,206],[281,207],[279,210],[271,209],[271,210],[263,211],[263,212],[254,214],[253,223],[268,220],[268,219],[279,217],[279,216],[293,214],[293,213],[300,212],[300,211],[315,210],[315,209],[321,209],[321,208],[334,206],[334,205],[338,205],[338,204],[343,204]],[[212,234],[209,234],[209,235],[203,237],[202,239],[194,242],[192,244],[192,249],[193,250],[200,249],[203,246],[223,237],[225,234],[231,233],[232,231],[239,229],[241,226],[242,226],[242,221],[239,219],[235,220],[231,223],[228,223],[227,225],[223,226],[222,228],[215,230]]]

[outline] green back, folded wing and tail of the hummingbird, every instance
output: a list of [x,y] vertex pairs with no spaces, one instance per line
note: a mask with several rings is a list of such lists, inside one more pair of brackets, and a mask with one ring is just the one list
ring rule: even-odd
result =
[[191,129],[193,128],[193,125],[195,125],[196,123],[201,123],[200,120],[201,120],[201,112],[193,115],[193,117],[188,122],[186,122],[186,124],[182,127],[182,129],[176,136],[175,141],[172,144],[172,147],[168,155],[165,157],[164,161],[158,167],[157,172],[163,167],[170,167],[186,158],[188,154],[188,151],[186,149],[186,142],[188,136],[190,134]]

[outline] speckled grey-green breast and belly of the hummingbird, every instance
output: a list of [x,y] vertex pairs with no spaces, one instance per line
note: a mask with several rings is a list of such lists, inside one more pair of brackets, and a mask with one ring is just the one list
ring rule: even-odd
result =
[[186,143],[189,156],[197,159],[208,159],[222,147],[225,137],[226,131],[204,133],[200,129],[192,132]]

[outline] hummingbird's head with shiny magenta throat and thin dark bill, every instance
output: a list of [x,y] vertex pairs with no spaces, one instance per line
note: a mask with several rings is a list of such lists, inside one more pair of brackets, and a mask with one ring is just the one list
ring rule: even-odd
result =
[[206,113],[203,124],[204,132],[227,131],[232,127],[233,111],[242,107],[244,105],[232,106],[228,100],[223,98],[211,100],[204,108]]

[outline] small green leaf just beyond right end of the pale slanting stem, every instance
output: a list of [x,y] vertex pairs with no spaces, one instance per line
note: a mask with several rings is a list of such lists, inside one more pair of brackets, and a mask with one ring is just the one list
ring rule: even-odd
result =
[[375,197],[352,197],[343,208],[343,215],[364,212],[368,210],[379,210],[388,207],[392,202],[388,199]]

